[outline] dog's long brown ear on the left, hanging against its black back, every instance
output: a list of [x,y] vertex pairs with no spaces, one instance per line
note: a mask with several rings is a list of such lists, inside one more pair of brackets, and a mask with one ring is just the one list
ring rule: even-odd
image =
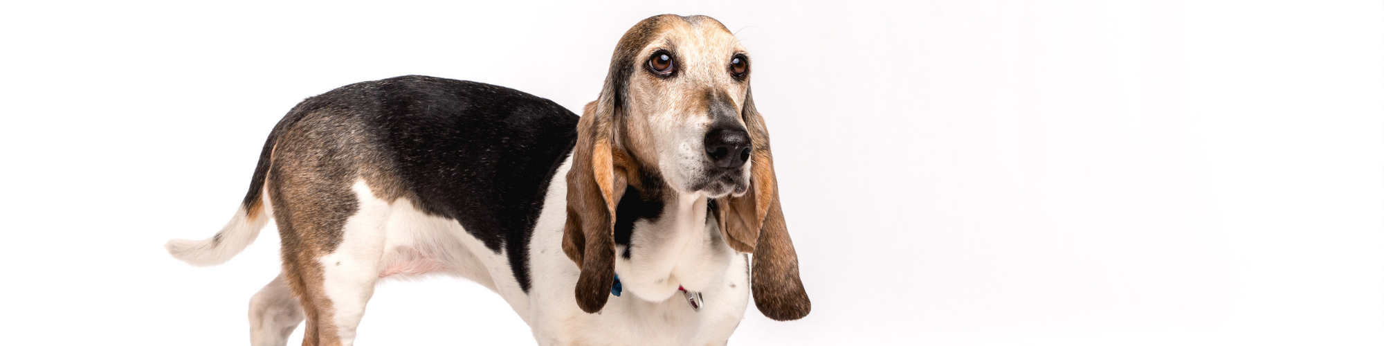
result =
[[581,267],[576,295],[587,313],[605,307],[614,282],[614,206],[626,188],[624,155],[612,148],[613,111],[603,101],[587,104],[577,120],[562,237],[562,251]]

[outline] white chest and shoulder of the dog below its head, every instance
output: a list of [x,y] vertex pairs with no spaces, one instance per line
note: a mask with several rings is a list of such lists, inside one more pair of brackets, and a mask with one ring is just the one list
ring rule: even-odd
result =
[[[749,303],[749,267],[745,255],[720,239],[714,223],[707,226],[704,199],[678,201],[686,208],[667,213],[680,215],[637,223],[630,259],[616,260],[627,293],[610,296],[598,314],[577,307],[574,286],[580,270],[562,252],[569,167],[570,159],[549,184],[529,245],[533,275],[529,324],[538,343],[724,345]],[[693,208],[698,202],[700,208]],[[677,293],[680,285],[702,292],[704,306],[693,310]]]

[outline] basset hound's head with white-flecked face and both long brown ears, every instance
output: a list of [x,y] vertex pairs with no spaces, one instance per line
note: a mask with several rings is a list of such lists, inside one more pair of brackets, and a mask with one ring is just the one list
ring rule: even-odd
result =
[[727,244],[754,253],[756,306],[774,320],[811,310],[783,223],[750,55],[709,17],[657,15],[620,39],[601,97],[577,123],[563,251],[581,267],[577,304],[599,311],[614,277],[613,226],[627,187],[650,177],[716,201]]

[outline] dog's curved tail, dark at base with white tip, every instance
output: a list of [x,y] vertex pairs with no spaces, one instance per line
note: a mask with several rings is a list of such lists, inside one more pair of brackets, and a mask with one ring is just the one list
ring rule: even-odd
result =
[[245,194],[245,201],[241,202],[241,208],[235,210],[231,221],[226,223],[226,227],[221,227],[221,231],[212,235],[212,238],[201,241],[169,241],[163,248],[173,257],[198,267],[216,266],[235,257],[237,253],[251,246],[251,242],[255,242],[259,231],[264,228],[264,224],[268,223],[273,215],[264,194],[264,181],[268,176],[270,156],[274,152],[274,143],[278,133],[275,129],[275,131],[270,133],[268,141],[264,143],[260,161],[255,166],[255,176],[251,179],[251,191]]

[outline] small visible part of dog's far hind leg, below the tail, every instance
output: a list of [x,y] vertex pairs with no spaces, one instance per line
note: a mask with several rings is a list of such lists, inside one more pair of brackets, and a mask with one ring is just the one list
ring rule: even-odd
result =
[[303,322],[303,307],[278,274],[259,293],[251,298],[251,345],[284,346],[288,336]]

